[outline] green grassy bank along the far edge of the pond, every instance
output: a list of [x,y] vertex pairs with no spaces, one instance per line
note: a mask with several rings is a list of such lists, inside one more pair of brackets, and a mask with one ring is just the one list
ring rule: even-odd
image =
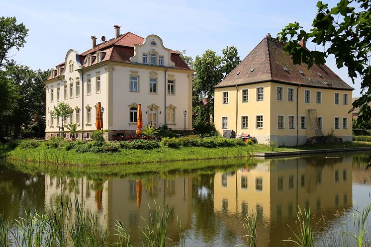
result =
[[[160,163],[174,161],[191,161],[207,159],[230,159],[252,157],[254,152],[279,152],[298,151],[331,148],[370,147],[367,142],[354,142],[342,145],[325,146],[301,146],[298,148],[270,147],[262,144],[238,145],[234,147],[178,147],[169,148],[160,145],[158,148],[149,150],[140,149],[118,149],[116,152],[106,153],[77,153],[75,150],[61,150],[51,148],[41,143],[38,147],[24,145],[26,140],[21,141],[18,146],[0,145],[1,157],[7,160],[27,161],[55,165],[118,165],[118,164],[140,164]],[[23,143],[23,144],[22,144]],[[27,147],[27,148],[24,148]],[[151,168],[152,169],[152,168]]]

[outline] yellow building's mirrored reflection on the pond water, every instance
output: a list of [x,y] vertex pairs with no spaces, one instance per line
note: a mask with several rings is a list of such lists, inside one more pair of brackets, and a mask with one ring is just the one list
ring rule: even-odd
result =
[[327,220],[336,210],[352,208],[352,157],[267,160],[253,168],[215,174],[215,213],[242,236],[242,225],[228,217],[242,222],[253,209],[258,246],[287,245],[281,240],[292,236],[286,224],[295,222],[297,206],[310,207],[312,214]]

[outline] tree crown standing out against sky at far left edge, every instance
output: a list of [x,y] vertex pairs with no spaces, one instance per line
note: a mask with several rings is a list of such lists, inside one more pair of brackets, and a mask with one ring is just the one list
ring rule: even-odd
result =
[[28,29],[23,23],[17,24],[15,17],[0,17],[0,68],[9,62],[13,64],[8,57],[9,51],[13,48],[19,51],[26,42]]

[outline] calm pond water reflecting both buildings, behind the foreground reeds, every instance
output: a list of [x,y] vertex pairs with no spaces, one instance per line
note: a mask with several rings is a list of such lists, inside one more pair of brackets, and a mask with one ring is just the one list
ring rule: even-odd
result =
[[186,246],[226,247],[246,245],[242,222],[254,210],[258,247],[276,247],[293,246],[282,240],[293,238],[287,224],[296,229],[298,206],[310,208],[315,222],[324,217],[325,228],[317,228],[318,242],[347,222],[354,201],[361,209],[371,202],[366,153],[198,161],[213,162],[228,165],[125,175],[107,174],[106,167],[84,173],[84,167],[72,172],[68,167],[31,169],[0,161],[0,212],[17,219],[25,210],[42,213],[61,198],[77,197],[97,215],[99,224],[109,227],[120,219],[140,246],[138,224],[154,213],[156,201],[171,206],[168,237],[174,242],[179,241],[181,221],[189,236]]

